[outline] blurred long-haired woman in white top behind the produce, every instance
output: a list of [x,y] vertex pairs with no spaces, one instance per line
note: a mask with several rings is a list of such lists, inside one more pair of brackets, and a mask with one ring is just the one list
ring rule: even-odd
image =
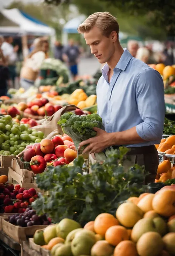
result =
[[40,39],[34,50],[28,55],[24,61],[23,67],[20,72],[20,84],[25,90],[34,85],[38,77],[39,70],[42,62],[47,58],[49,50],[49,42],[45,39]]

